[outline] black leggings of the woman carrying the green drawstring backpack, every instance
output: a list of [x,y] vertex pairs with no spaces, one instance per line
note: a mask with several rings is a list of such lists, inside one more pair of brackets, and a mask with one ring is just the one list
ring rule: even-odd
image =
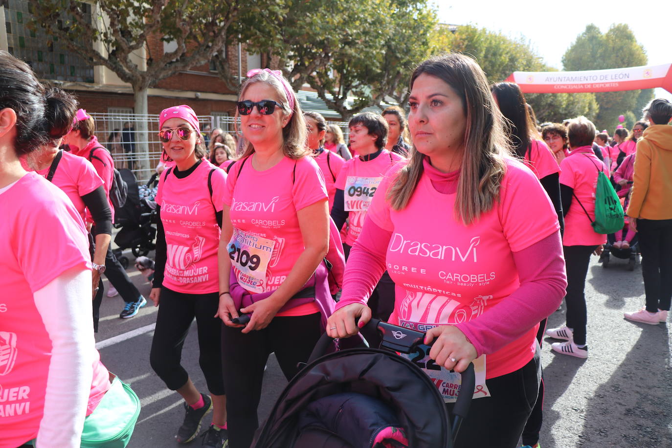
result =
[[567,304],[566,322],[574,333],[574,343],[586,343],[586,325],[588,312],[586,309],[585,285],[590,255],[597,246],[562,246],[564,263],[567,269],[567,292],[564,301]]

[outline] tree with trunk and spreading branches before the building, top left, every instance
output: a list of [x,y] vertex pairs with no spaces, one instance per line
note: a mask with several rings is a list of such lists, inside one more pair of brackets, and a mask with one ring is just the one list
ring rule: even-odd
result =
[[[227,44],[230,25],[248,10],[239,0],[95,0],[89,21],[81,1],[28,1],[34,15],[30,27],[44,28],[69,50],[132,85],[136,114],[147,114],[149,87],[208,62]],[[174,42],[175,50],[152,54],[147,42],[157,36]],[[136,130],[138,152],[146,153],[146,122],[138,122]],[[140,164],[149,169],[144,158]]]

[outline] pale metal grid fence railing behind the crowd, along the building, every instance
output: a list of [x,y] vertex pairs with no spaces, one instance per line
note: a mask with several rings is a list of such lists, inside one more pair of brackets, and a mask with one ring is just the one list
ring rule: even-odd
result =
[[[163,146],[159,141],[159,115],[158,114],[103,114],[91,113],[95,122],[95,136],[98,142],[105,146],[112,154],[115,166],[128,168],[135,174],[138,181],[146,181],[155,173],[155,169],[161,160]],[[138,124],[144,122],[147,125],[146,139],[140,139]],[[211,129],[222,128],[224,132],[235,134],[235,118],[228,116],[198,116],[201,129],[210,125]],[[347,122],[330,122],[343,129],[347,135]],[[140,151],[146,144],[147,152]],[[142,169],[142,165],[148,168]]]

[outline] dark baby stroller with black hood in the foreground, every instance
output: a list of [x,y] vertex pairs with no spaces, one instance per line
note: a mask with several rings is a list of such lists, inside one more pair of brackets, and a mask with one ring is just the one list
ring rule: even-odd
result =
[[324,334],[308,364],[278,398],[253,447],[452,448],[473,398],[474,366],[462,373],[451,425],[431,379],[393,353],[413,353],[425,334],[376,319],[364,329],[378,330],[386,350],[355,348],[325,355],[333,341]]

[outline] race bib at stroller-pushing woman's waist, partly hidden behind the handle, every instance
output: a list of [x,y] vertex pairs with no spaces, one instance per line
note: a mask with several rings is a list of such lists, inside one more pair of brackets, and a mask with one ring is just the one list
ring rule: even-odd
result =
[[[437,365],[433,359],[429,357],[429,350],[431,347],[427,345],[418,345],[415,351],[409,355],[402,353],[401,355],[407,357],[413,364],[417,365],[431,379],[436,388],[444,397],[444,402],[454,403],[460,394],[460,387],[462,385],[462,375],[460,373],[449,371]],[[474,363],[474,373],[476,375],[476,386],[474,387],[474,399],[489,397],[490,391],[485,386],[485,355],[480,355],[472,361]]]

